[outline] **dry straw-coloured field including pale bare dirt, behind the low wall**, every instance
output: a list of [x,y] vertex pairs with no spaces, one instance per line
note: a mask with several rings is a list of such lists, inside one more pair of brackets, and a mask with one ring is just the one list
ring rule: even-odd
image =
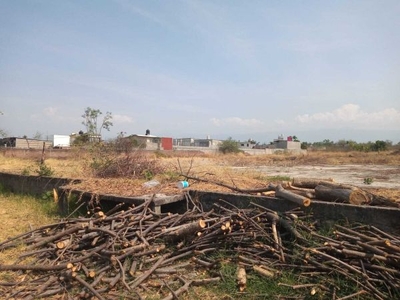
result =
[[[22,153],[22,154],[21,154]],[[41,157],[40,152],[4,152],[0,156],[0,171],[22,174],[27,166]],[[165,166],[167,175],[156,176],[160,184],[155,188],[143,187],[145,180],[129,178],[93,178],[85,164],[91,161],[90,153],[76,151],[46,153],[46,164],[57,177],[84,178],[76,188],[94,193],[137,196],[160,192],[179,193],[176,183],[189,174],[210,182],[189,180],[190,189],[232,192],[216,185],[224,183],[241,189],[260,188],[280,178],[332,178],[337,183],[352,184],[370,189],[381,196],[400,201],[400,150],[382,153],[360,152],[309,152],[306,155],[203,155],[173,153],[155,155]],[[22,156],[21,156],[22,155]],[[274,178],[275,177],[275,178]],[[364,184],[372,178],[371,184]]]

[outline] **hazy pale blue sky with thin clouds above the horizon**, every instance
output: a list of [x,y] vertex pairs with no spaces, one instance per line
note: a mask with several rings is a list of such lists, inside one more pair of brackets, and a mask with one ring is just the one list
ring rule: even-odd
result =
[[0,128],[400,141],[400,1],[0,0]]

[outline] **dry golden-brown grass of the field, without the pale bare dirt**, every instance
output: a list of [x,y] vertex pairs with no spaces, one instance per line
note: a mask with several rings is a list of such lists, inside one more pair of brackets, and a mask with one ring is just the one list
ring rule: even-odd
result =
[[[191,152],[145,152],[150,159],[157,160],[164,170],[155,174],[154,179],[161,184],[153,189],[145,189],[142,184],[146,179],[132,178],[96,178],[91,172],[90,163],[93,153],[79,149],[68,151],[47,151],[46,165],[53,171],[53,176],[84,179],[76,188],[94,193],[119,194],[133,196],[160,192],[165,194],[177,193],[176,183],[184,177],[179,174],[195,176],[214,182],[238,187],[241,189],[265,187],[270,181],[279,178],[269,178],[251,168],[260,166],[321,166],[321,165],[390,165],[400,166],[400,153],[385,152],[326,152],[309,151],[307,154],[292,155],[287,153],[275,155],[249,156],[241,154],[213,154]],[[36,175],[41,151],[12,151],[7,150],[0,155],[0,171]],[[246,167],[232,169],[232,167]],[[148,179],[147,179],[148,180]],[[192,189],[223,191],[230,190],[212,183],[190,182]],[[386,197],[400,199],[398,189],[373,189]]]

